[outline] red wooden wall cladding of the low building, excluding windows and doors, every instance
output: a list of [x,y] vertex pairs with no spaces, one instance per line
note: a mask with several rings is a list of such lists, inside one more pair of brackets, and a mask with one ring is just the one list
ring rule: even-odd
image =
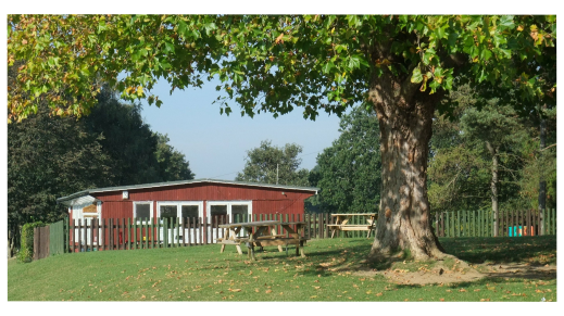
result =
[[[128,190],[129,199],[122,199],[122,191],[91,193],[102,201],[102,218],[127,218],[133,216],[133,202],[153,201],[252,201],[253,214],[303,214],[303,200],[313,192],[281,188],[239,186],[229,184],[188,184],[171,187]],[[284,194],[283,194],[284,193]]]

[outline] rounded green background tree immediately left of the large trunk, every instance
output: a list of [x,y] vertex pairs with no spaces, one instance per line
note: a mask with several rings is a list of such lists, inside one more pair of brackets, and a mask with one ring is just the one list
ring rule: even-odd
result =
[[381,190],[378,118],[355,108],[339,123],[339,138],[317,155],[312,186],[321,191],[316,204],[325,212],[377,212]]

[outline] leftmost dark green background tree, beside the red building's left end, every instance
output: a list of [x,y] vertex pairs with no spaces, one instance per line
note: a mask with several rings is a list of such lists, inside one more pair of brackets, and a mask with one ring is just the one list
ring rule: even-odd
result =
[[8,256],[18,248],[26,223],[57,222],[66,214],[57,198],[112,182],[102,137],[83,122],[51,117],[46,108],[7,127]]

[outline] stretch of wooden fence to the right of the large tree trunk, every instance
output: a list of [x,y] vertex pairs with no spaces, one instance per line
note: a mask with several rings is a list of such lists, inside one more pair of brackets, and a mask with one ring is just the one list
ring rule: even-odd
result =
[[[500,211],[498,236],[556,235],[556,211]],[[433,226],[438,237],[493,237],[493,213],[480,210],[437,213]]]

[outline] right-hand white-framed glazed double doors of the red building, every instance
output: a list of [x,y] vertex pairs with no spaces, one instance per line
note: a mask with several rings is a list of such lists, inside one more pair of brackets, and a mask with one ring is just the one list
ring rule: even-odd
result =
[[[248,222],[249,215],[252,214],[252,201],[213,201],[208,202],[208,236],[211,236],[212,242],[216,243],[216,237],[221,236],[215,223],[220,224],[223,218],[225,224],[227,218],[230,223]],[[228,217],[226,216],[228,215]],[[216,222],[217,220],[217,222]],[[218,235],[220,233],[220,235]],[[242,236],[245,232],[239,232]]]

